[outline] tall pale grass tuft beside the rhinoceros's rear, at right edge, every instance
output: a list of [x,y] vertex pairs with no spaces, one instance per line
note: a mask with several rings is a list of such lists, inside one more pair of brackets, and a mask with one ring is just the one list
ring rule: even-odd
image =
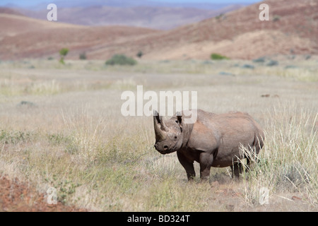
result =
[[245,198],[254,205],[259,189],[266,187],[271,194],[300,192],[317,204],[318,138],[314,125],[318,114],[295,107],[281,111],[269,113],[264,148],[254,158],[254,167],[244,174]]

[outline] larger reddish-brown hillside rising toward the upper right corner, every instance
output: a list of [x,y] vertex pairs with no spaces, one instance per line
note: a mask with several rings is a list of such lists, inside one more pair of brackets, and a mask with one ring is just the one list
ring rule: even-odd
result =
[[259,4],[254,4],[218,18],[157,33],[134,44],[150,59],[208,59],[212,52],[239,59],[318,54],[317,1],[264,3],[269,4],[269,21],[259,20]]

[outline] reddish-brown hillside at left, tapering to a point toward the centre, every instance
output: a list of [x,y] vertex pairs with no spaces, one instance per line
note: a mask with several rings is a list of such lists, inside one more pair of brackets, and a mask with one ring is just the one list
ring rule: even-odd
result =
[[[120,45],[156,30],[126,26],[88,27],[0,13],[0,59],[49,57],[70,49],[71,57],[105,44]],[[104,49],[105,50],[105,49]]]

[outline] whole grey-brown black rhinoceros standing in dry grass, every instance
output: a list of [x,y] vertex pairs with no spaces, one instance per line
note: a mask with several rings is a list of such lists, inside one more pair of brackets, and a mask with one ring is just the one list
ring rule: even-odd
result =
[[[196,114],[196,121],[184,123],[192,113]],[[231,167],[232,176],[239,177],[240,160],[247,158],[249,165],[249,156],[257,155],[264,145],[261,126],[247,113],[213,114],[197,109],[163,120],[154,112],[153,121],[155,149],[163,155],[177,151],[189,180],[196,175],[194,161],[200,164],[202,179],[208,179],[211,167]],[[251,155],[242,153],[242,148]]]

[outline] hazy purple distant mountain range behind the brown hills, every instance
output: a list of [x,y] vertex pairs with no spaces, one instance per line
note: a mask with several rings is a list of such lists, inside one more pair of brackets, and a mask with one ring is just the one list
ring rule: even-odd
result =
[[[134,3],[137,4],[139,1],[131,1],[126,7],[123,7],[120,1],[114,1],[114,4],[110,1],[109,4],[113,6],[66,7],[69,6],[67,2],[71,3],[72,1],[65,1],[64,4],[61,4],[62,7],[58,6],[58,21],[62,23],[78,25],[128,25],[159,30],[177,28],[180,25],[195,23],[242,7],[242,5],[230,5],[207,10],[188,7],[134,6]],[[98,2],[96,1],[96,4]],[[90,2],[90,4],[92,3]],[[31,18],[47,19],[48,11],[46,7],[37,11],[16,8],[16,11]]]

